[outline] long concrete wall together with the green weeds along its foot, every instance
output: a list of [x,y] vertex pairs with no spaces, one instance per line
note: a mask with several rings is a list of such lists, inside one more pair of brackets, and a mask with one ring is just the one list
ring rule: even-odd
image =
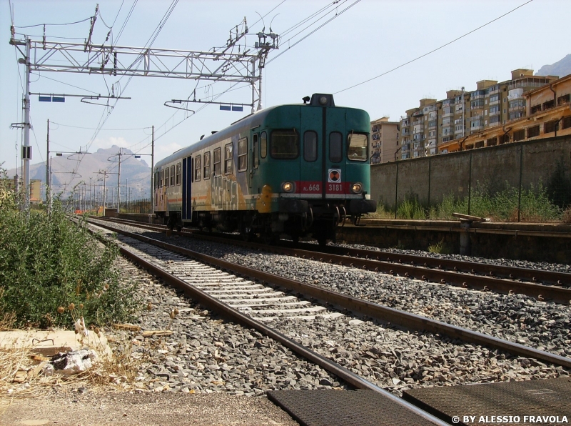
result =
[[571,222],[571,137],[375,165],[371,197],[387,218]]

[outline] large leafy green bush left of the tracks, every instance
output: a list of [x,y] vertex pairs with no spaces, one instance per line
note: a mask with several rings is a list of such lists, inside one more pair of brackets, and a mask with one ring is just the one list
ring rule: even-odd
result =
[[70,306],[87,325],[131,318],[136,286],[119,282],[117,249],[102,247],[81,222],[59,200],[49,217],[21,212],[0,184],[0,313],[14,313],[17,326],[69,326]]

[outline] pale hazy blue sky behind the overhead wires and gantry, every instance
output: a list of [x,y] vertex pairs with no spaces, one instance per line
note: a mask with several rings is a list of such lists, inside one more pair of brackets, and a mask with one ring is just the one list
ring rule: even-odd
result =
[[[113,27],[113,39],[116,39],[126,22],[117,43],[121,46],[145,46],[171,5],[167,0],[1,0],[0,28],[4,40],[0,40],[0,163],[4,162],[4,168],[20,165],[19,159],[16,162],[16,154],[19,154],[16,147],[22,142],[22,134],[20,130],[10,129],[10,124],[23,121],[24,66],[17,63],[20,54],[9,45],[10,5],[16,32],[41,39],[44,31],[41,26],[18,27],[81,21],[94,15],[97,1],[101,17],[96,21],[92,40],[102,44],[107,26]],[[214,46],[223,46],[229,31],[240,24],[244,16],[251,33],[246,43],[252,45],[258,41],[255,34],[264,26],[268,32],[271,23],[273,32],[286,35],[281,39],[280,49],[268,56],[263,72],[264,106],[300,103],[303,96],[315,92],[333,93],[338,105],[365,109],[371,119],[389,115],[392,121],[398,121],[406,109],[418,106],[419,99],[443,99],[446,90],[461,86],[475,90],[479,80],[505,81],[510,79],[512,69],[537,71],[540,66],[552,64],[571,53],[570,44],[565,41],[571,1],[526,2],[361,0],[355,4],[355,0],[340,0],[335,2],[335,9],[330,8],[334,10],[332,13],[315,24],[310,25],[315,21],[312,19],[286,33],[333,1],[180,0],[153,47],[208,51]],[[132,14],[126,21],[133,4]],[[521,5],[520,9],[497,19]],[[350,9],[343,12],[348,6]],[[288,49],[335,16],[335,12],[338,14],[335,19]],[[259,21],[260,15],[265,16],[263,21]],[[497,21],[428,54],[494,19]],[[46,26],[46,36],[51,40],[56,36],[76,37],[79,38],[76,41],[81,42],[88,34],[89,21]],[[281,56],[276,57],[278,54]],[[428,55],[345,90],[424,54]],[[43,72],[34,73],[31,81],[31,92],[105,95],[112,84],[124,88],[128,77]],[[95,152],[116,144],[133,152],[150,154],[150,127],[154,125],[158,160],[249,112],[248,108],[243,113],[223,112],[211,105],[184,119],[183,112],[163,106],[171,99],[186,99],[196,86],[196,81],[191,80],[133,77],[123,91],[123,96],[132,99],[118,101],[97,134],[94,129],[108,112],[105,106],[84,104],[79,98],[71,97],[61,104],[44,103],[38,101],[38,96],[31,96],[32,163],[46,157],[47,119],[52,123],[52,151],[77,151],[80,147],[85,151],[89,147],[90,152]],[[200,81],[196,94],[204,98],[229,87],[229,83],[211,85]],[[245,87],[231,91],[218,101],[246,104],[251,101],[251,90]],[[199,107],[198,104],[191,106],[192,109]],[[178,126],[173,127],[176,124]],[[148,157],[144,158],[150,164]]]

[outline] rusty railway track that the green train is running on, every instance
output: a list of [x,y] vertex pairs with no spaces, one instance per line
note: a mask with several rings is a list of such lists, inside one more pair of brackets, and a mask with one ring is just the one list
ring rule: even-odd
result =
[[[114,220],[124,224],[166,232],[161,225],[140,224],[127,220]],[[465,262],[453,259],[437,259],[410,254],[395,254],[376,250],[355,249],[338,246],[319,247],[317,244],[293,244],[281,240],[279,246],[243,242],[240,237],[218,237],[203,232],[188,231],[184,235],[208,239],[213,242],[231,242],[243,247],[264,249],[268,252],[287,254],[304,259],[319,260],[350,267],[359,267],[385,274],[399,275],[427,282],[449,284],[465,289],[525,294],[538,300],[559,304],[571,302],[571,274],[540,269],[506,267],[500,265]]]

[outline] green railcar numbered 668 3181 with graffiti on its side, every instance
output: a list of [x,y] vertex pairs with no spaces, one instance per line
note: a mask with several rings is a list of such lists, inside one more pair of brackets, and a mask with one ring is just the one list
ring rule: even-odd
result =
[[330,94],[263,109],[158,162],[154,211],[171,229],[326,244],[345,219],[375,212],[369,131],[367,112]]

